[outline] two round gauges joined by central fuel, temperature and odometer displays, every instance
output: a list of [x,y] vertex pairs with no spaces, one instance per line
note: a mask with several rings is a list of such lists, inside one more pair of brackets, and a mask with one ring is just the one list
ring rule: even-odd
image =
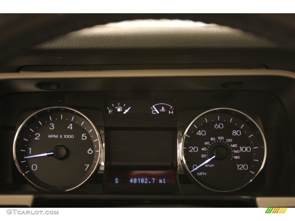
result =
[[86,188],[97,176],[111,192],[179,192],[179,176],[209,192],[253,182],[266,162],[260,117],[228,107],[181,110],[178,103],[105,98],[92,110],[25,111],[14,135],[15,166],[32,187],[51,192]]

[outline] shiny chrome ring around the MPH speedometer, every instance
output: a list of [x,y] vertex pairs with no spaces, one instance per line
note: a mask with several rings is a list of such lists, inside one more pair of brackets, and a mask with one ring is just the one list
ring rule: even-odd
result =
[[[261,134],[261,137],[262,137],[262,140],[263,140],[263,145],[264,145],[264,156],[263,156],[263,162],[260,166],[260,169],[258,170],[258,172],[255,174],[255,176],[249,181],[247,182],[245,185],[239,187],[239,188],[236,188],[236,189],[231,189],[231,190],[226,190],[226,191],[221,191],[221,190],[215,190],[215,189],[212,189],[212,188],[209,188],[207,186],[205,186],[204,184],[202,184],[201,182],[199,182],[198,179],[196,179],[190,172],[187,164],[186,164],[186,161],[185,161],[185,156],[184,156],[184,141],[185,141],[185,137],[190,129],[190,127],[194,124],[194,122],[199,119],[201,116],[209,113],[209,112],[214,112],[214,111],[222,111],[222,110],[226,110],[226,111],[233,111],[233,112],[237,112],[241,115],[243,115],[245,118],[248,118],[257,128],[258,128],[258,131],[260,132]],[[216,113],[215,112],[215,113]],[[237,110],[237,109],[234,109],[234,108],[213,108],[213,109],[209,109],[207,111],[204,111],[202,113],[200,113],[198,116],[196,116],[193,120],[190,121],[190,123],[188,124],[188,126],[186,126],[184,132],[182,133],[181,135],[181,138],[180,138],[180,141],[179,141],[179,144],[178,144],[178,148],[179,148],[179,151],[178,151],[178,157],[180,159],[180,162],[181,162],[181,165],[184,167],[184,171],[186,174],[189,175],[190,178],[193,179],[193,181],[197,182],[198,184],[200,184],[202,187],[204,187],[205,189],[208,189],[210,191],[214,191],[214,192],[233,192],[233,191],[237,191],[237,190],[240,190],[242,188],[244,188],[245,186],[247,186],[250,182],[253,181],[253,179],[255,179],[255,177],[257,177],[257,175],[261,172],[261,170],[264,168],[264,165],[265,165],[265,162],[266,162],[266,139],[265,139],[265,136],[264,136],[264,133],[261,129],[261,127],[258,125],[258,123],[253,120],[253,118],[251,118],[248,114],[240,111],[240,110]]]

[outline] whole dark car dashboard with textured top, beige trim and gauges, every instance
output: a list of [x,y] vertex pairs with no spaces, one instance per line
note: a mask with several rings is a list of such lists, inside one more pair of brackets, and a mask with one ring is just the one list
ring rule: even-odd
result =
[[291,46],[214,24],[42,33],[0,55],[1,206],[294,207]]

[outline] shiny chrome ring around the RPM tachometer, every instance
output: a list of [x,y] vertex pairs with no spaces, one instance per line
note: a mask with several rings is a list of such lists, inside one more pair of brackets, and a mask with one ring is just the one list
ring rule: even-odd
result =
[[[65,111],[66,110],[66,111]],[[45,189],[45,188],[42,188],[40,186],[38,186],[37,184],[35,184],[34,182],[32,182],[30,179],[27,178],[27,176],[24,174],[24,172],[22,171],[22,169],[20,168],[19,166],[19,162],[17,161],[17,154],[16,154],[16,145],[17,145],[17,139],[19,137],[19,133],[22,131],[22,129],[24,128],[24,126],[26,126],[26,124],[28,122],[30,122],[32,120],[32,118],[35,118],[37,119],[38,117],[41,117],[43,116],[43,112],[45,112],[45,114],[48,114],[48,113],[55,113],[55,112],[67,112],[67,113],[72,113],[72,114],[75,114],[77,116],[80,116],[81,118],[84,118],[86,121],[88,121],[91,126],[93,127],[94,131],[95,131],[95,134],[97,135],[98,137],[98,149],[99,149],[99,156],[97,158],[97,163],[95,164],[95,167],[93,169],[93,172],[89,174],[88,177],[86,177],[86,179],[83,179],[83,182],[80,182],[78,185],[72,187],[72,188],[69,188],[69,189],[66,189],[64,191],[71,191],[73,189],[77,189],[78,187],[80,187],[82,184],[84,184],[90,177],[92,174],[94,174],[94,171],[97,170],[97,168],[99,167],[99,165],[101,164],[102,162],[102,156],[104,156],[104,145],[103,145],[103,142],[102,142],[102,138],[101,138],[101,135],[98,131],[98,129],[96,128],[96,126],[94,125],[94,123],[86,116],[84,115],[83,113],[81,113],[80,111],[76,110],[76,109],[73,109],[73,108],[70,108],[70,107],[65,107],[65,106],[52,106],[52,107],[47,107],[47,108],[42,108],[40,110],[37,110],[35,111],[34,113],[32,113],[30,116],[28,116],[22,123],[21,125],[19,126],[19,128],[17,129],[15,135],[14,135],[14,141],[13,141],[13,158],[14,158],[14,163],[18,169],[18,171],[23,175],[23,177],[30,183],[32,184],[34,187],[36,187],[37,189],[40,189],[40,190],[45,190],[45,191],[50,191],[48,189]],[[40,115],[40,116],[39,116]]]

